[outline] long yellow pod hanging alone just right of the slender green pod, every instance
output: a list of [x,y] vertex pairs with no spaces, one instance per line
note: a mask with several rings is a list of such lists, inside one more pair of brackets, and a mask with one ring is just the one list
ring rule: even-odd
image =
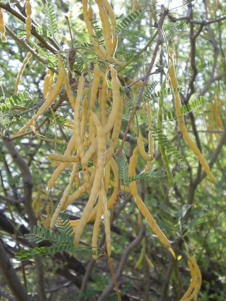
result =
[[[169,68],[169,77],[170,77],[170,82],[171,82],[172,87],[178,88],[178,82],[177,82],[176,72],[175,72],[174,63],[173,63],[172,58],[171,58],[171,64],[170,64],[170,68]],[[203,170],[209,177],[210,181],[212,183],[215,183],[215,178],[214,178],[213,174],[211,173],[209,166],[205,161],[205,158],[203,157],[203,155],[200,152],[200,150],[198,149],[197,145],[193,142],[193,140],[191,139],[191,137],[189,136],[189,134],[187,132],[187,129],[186,129],[186,126],[184,123],[184,117],[181,115],[181,111],[180,111],[181,101],[180,101],[179,92],[174,92],[173,95],[174,95],[174,99],[175,99],[175,109],[176,109],[176,115],[178,118],[179,128],[180,128],[181,133],[184,136],[184,140],[187,142],[187,144],[189,145],[189,147],[191,148],[193,153],[197,156],[199,162],[201,163],[201,165],[203,167]]]

